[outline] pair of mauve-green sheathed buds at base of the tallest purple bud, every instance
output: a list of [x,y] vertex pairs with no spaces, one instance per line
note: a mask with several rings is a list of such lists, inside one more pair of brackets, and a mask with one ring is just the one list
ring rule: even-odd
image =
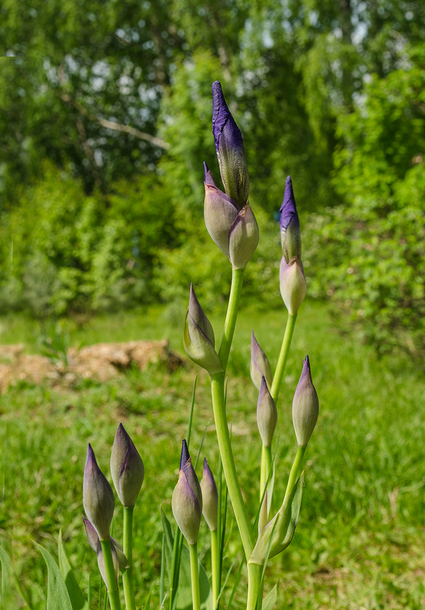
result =
[[259,227],[247,202],[242,209],[217,188],[204,163],[205,226],[213,242],[226,254],[234,269],[245,269],[259,243]]

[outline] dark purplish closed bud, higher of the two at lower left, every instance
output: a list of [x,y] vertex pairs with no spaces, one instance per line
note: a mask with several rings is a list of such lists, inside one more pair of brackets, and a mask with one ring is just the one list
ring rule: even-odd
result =
[[134,506],[145,477],[145,467],[121,422],[113,439],[110,468],[121,504],[126,508]]

